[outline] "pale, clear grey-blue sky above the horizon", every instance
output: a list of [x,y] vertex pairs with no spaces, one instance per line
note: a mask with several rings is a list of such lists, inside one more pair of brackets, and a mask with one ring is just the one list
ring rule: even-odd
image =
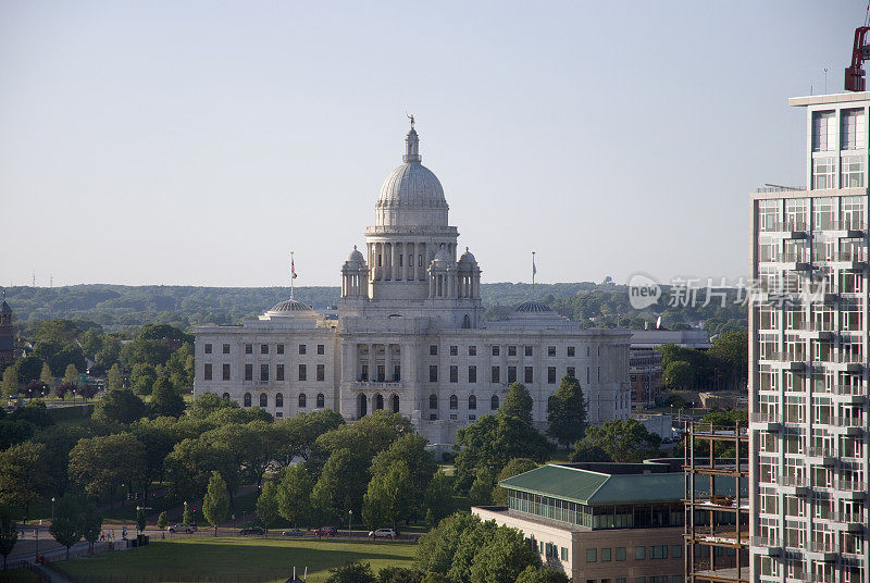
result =
[[745,276],[866,10],[0,0],[0,285],[339,285],[406,113],[484,282]]

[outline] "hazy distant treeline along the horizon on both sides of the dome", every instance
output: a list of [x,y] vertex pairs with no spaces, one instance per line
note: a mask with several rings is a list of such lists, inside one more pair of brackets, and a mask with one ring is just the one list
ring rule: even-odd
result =
[[[338,303],[338,287],[297,287],[295,296],[315,310]],[[487,320],[507,317],[521,301],[536,299],[559,313],[588,326],[630,328],[655,327],[659,317],[663,326],[688,327],[704,322],[711,334],[745,331],[746,306],[736,292],[705,303],[705,289],[697,289],[692,301],[674,301],[664,288],[658,302],[635,310],[624,285],[593,282],[536,284],[495,283],[481,285]],[[286,299],[286,287],[195,287],[73,285],[63,287],[8,287],[7,300],[16,323],[26,332],[40,320],[64,318],[100,324],[104,330],[139,327],[144,324],[171,324],[183,330],[215,323],[237,324],[254,318]],[[683,298],[685,299],[685,298]],[[674,306],[671,306],[674,303]]]

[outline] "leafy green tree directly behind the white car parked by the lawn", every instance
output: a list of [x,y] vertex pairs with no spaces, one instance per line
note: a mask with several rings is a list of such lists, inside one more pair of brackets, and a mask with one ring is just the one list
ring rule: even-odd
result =
[[413,482],[403,460],[391,462],[382,473],[372,475],[363,496],[362,520],[371,529],[380,529],[407,518],[413,511]]

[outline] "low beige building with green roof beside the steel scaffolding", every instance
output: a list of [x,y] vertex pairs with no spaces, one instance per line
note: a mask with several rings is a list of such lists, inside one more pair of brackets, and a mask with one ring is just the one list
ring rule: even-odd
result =
[[507,507],[473,507],[523,532],[574,583],[683,583],[682,460],[549,463],[499,482]]

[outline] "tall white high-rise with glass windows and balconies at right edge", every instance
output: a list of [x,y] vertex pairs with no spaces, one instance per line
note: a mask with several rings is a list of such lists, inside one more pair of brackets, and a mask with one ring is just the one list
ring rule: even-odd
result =
[[751,570],[867,583],[870,92],[806,109],[806,188],[753,197]]

